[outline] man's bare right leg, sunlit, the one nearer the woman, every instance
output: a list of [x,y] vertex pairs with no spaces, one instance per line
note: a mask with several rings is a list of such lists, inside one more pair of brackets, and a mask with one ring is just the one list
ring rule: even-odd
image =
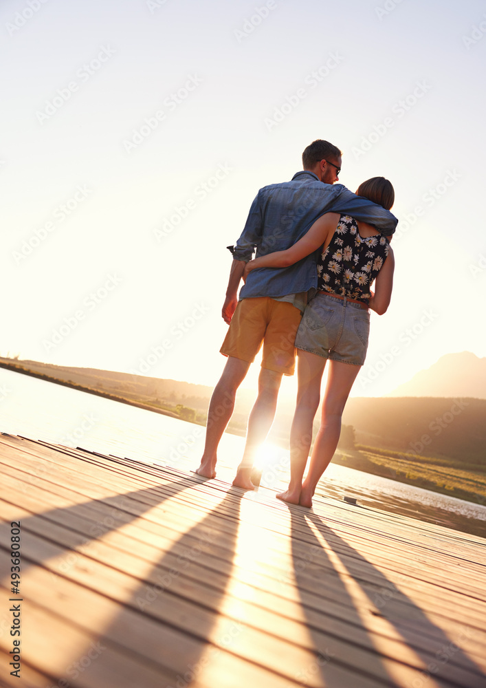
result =
[[258,397],[253,405],[250,418],[248,418],[245,451],[233,481],[236,487],[254,490],[255,486],[250,480],[250,474],[252,473],[256,451],[265,442],[269,429],[274,422],[282,375],[283,373],[277,373],[274,370],[261,369],[258,377]]

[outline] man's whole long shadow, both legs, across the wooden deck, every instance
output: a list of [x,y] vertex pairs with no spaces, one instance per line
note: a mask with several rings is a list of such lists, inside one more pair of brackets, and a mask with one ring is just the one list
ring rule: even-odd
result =
[[[72,550],[80,548],[82,552],[82,546],[89,544],[89,541],[102,538],[107,533],[134,522],[175,495],[179,495],[181,502],[186,503],[188,514],[193,514],[197,505],[194,506],[191,501],[191,493],[201,486],[202,481],[190,475],[174,481],[170,475],[162,474],[161,477],[166,481],[162,485],[149,485],[105,499],[87,499],[80,504],[47,510],[36,517],[45,521],[45,527],[39,521],[32,523],[33,517],[23,518],[22,529],[25,535],[32,533],[47,540],[46,555],[38,563],[23,559],[23,574],[30,566],[41,566],[43,561],[47,563],[52,557],[58,557],[59,550],[70,550],[74,560],[70,561],[68,554],[65,570],[61,567],[60,574],[72,580],[69,570],[79,557]],[[153,481],[157,478],[151,473],[144,475],[142,479]],[[128,648],[131,656],[138,656],[140,665],[148,663],[155,671],[159,666],[164,669],[164,675],[173,677],[173,685],[177,686],[190,685],[192,677],[203,669],[208,661],[206,656],[204,662],[201,661],[206,650],[217,652],[207,639],[219,621],[219,606],[232,576],[239,506],[243,493],[229,488],[228,491],[221,491],[221,495],[221,501],[213,508],[209,507],[208,513],[204,513],[205,509],[199,507],[201,520],[177,537],[173,545],[162,552],[158,561],[148,564],[148,573],[135,586],[130,599],[124,600],[119,612],[108,619],[104,627],[102,622],[96,629],[96,637],[102,642],[106,640],[114,643],[122,652]],[[219,497],[219,491],[214,490],[213,496]],[[95,503],[96,510],[93,509]],[[219,521],[215,522],[215,517]],[[60,529],[49,527],[49,523],[56,524]],[[164,525],[160,524],[159,527],[163,529]],[[52,546],[49,546],[49,541]],[[133,546],[136,547],[135,541]],[[87,556],[91,556],[89,552]],[[113,561],[103,563],[114,566],[117,563],[115,557],[116,555]],[[57,574],[53,576],[56,577]],[[100,592],[96,580],[92,581],[92,586],[89,584],[87,587]],[[102,594],[110,596],[109,592]],[[139,630],[140,627],[150,629],[150,638],[130,631],[127,635],[130,620],[133,621],[137,616],[139,619],[142,617],[140,623],[136,622],[137,627]],[[215,638],[216,645],[228,645],[237,633],[238,625],[228,623],[221,632],[222,637]],[[157,643],[156,649],[153,647],[154,642]],[[77,649],[76,654],[79,652],[81,658],[87,656],[90,647],[91,645]],[[174,647],[178,651],[175,652]],[[74,660],[76,658],[70,658],[66,671]],[[102,656],[97,661],[102,662]],[[83,678],[87,679],[88,675],[89,669],[83,674]],[[68,680],[69,676],[52,678]],[[122,676],[113,671],[104,688],[118,688],[123,685],[122,679]],[[160,685],[161,688],[166,686],[163,678]]]

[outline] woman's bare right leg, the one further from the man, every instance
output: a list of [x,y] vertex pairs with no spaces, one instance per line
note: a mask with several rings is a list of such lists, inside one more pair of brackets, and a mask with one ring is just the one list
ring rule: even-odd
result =
[[342,412],[360,369],[360,365],[329,361],[329,376],[322,401],[322,420],[312,450],[309,473],[300,493],[299,504],[302,506],[312,506],[316,485],[333,458],[341,433]]

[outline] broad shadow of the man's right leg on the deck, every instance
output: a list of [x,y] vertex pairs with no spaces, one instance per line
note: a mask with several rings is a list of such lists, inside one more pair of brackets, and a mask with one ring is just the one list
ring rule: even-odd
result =
[[[232,577],[242,497],[241,491],[229,488],[219,504],[162,554],[125,601],[125,606],[153,622],[153,632],[159,633],[156,654],[147,652],[146,637],[124,638],[118,617],[100,632],[111,641],[128,641],[132,652],[140,654],[140,663],[149,656],[165,667],[174,687],[189,686],[219,652],[217,647],[228,647],[239,634],[239,625],[228,620],[214,644],[210,642]],[[120,676],[113,673],[110,678],[107,688],[118,688]]]

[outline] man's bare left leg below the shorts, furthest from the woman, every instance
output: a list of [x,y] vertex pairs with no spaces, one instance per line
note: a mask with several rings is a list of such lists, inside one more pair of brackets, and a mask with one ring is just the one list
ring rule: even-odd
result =
[[206,443],[201,458],[201,465],[196,473],[205,477],[214,477],[214,468],[217,462],[217,449],[219,440],[223,436],[225,427],[232,416],[236,390],[245,379],[250,363],[240,358],[228,356],[228,361],[223,370],[219,382],[214,387],[208,409],[208,422],[206,423]]

